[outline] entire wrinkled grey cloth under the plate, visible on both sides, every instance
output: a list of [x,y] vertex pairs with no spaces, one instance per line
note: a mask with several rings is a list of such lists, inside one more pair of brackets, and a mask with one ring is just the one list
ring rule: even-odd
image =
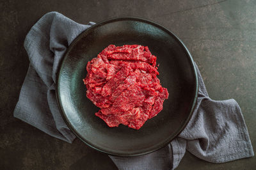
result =
[[[30,65],[14,116],[68,143],[72,143],[75,135],[58,109],[56,70],[72,40],[93,24],[77,24],[58,12],[50,12],[36,22],[24,42]],[[196,71],[199,94],[187,127],[170,144],[153,153],[138,157],[109,156],[118,169],[175,169],[186,150],[214,163],[253,157],[248,130],[236,100],[211,100],[197,66]]]

